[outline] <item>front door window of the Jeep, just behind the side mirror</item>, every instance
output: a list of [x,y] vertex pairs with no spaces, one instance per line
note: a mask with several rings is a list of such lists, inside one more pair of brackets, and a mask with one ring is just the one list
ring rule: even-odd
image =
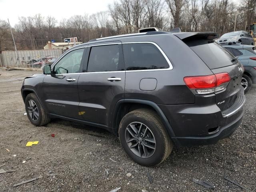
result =
[[54,74],[78,73],[84,48],[77,49],[66,54],[55,66]]

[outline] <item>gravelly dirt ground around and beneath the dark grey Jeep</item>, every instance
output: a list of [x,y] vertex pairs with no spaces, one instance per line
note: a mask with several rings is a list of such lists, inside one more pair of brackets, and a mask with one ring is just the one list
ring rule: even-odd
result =
[[[256,86],[246,95],[243,122],[230,138],[211,146],[174,147],[159,166],[143,167],[105,130],[60,119],[33,126],[24,116],[20,94],[23,78],[33,73],[0,69],[0,166],[15,171],[0,174],[1,192],[109,192],[117,187],[119,192],[210,191],[193,178],[212,182],[214,192],[242,191],[224,176],[250,190],[256,187]],[[26,147],[28,141],[39,143]],[[12,187],[38,176],[42,178]]]

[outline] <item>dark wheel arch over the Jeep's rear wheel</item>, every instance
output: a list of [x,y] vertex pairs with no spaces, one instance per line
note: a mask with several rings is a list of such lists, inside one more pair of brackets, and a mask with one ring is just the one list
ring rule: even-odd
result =
[[164,115],[160,107],[152,101],[140,100],[140,99],[123,99],[123,100],[119,100],[116,103],[113,116],[112,116],[112,131],[116,136],[118,136],[119,124],[122,118],[124,117],[124,115],[126,115],[128,112],[132,110],[136,110],[139,108],[148,108],[148,109],[154,110],[160,116],[164,124],[164,127],[166,128],[170,137],[171,138],[175,137],[175,134],[170,125],[170,122],[168,121],[168,119],[166,118],[166,116]]

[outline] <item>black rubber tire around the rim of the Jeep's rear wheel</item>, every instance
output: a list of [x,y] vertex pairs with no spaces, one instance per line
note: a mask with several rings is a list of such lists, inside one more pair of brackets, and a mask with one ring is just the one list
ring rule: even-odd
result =
[[[138,124],[142,124],[142,126],[146,126],[148,127],[149,131],[148,134],[146,135],[146,137],[144,138],[148,138],[148,136],[152,136],[155,140],[155,144],[151,143],[154,145],[155,150],[154,152],[152,152],[151,150],[151,155],[145,156],[145,150],[144,150],[144,144],[143,142],[145,142],[145,140],[143,140],[143,142],[139,142],[139,139],[141,140],[142,137],[140,137],[138,134],[139,139],[132,141],[134,142],[134,144],[136,144],[136,142],[138,142],[138,147],[136,147],[135,149],[130,149],[130,147],[132,146],[130,143],[128,144],[127,141],[127,135],[130,134],[130,132],[127,130],[126,128],[128,128],[128,126],[130,126],[130,124],[135,123],[134,125],[136,126],[136,123]],[[129,127],[130,128],[130,127]],[[139,128],[138,128],[139,129]],[[138,130],[137,129],[137,130]],[[140,130],[140,129],[139,129]],[[146,130],[146,128],[145,128]],[[144,135],[145,135],[144,131]],[[130,134],[131,136],[131,134]],[[132,160],[134,160],[134,162],[142,165],[142,166],[156,166],[160,163],[162,163],[172,152],[172,141],[170,140],[170,137],[166,131],[166,129],[164,128],[164,125],[162,124],[160,117],[158,116],[158,114],[156,112],[154,112],[153,110],[148,110],[148,109],[138,109],[138,110],[134,110],[129,112],[128,114],[126,114],[121,122],[120,122],[120,126],[119,126],[119,138],[120,138],[120,142],[122,144],[122,147],[124,148],[125,152],[128,154],[128,156],[130,156],[130,158],[132,158]],[[129,140],[129,139],[128,139]],[[143,144],[142,144],[143,143]],[[146,144],[150,144],[150,142],[146,141]],[[130,145],[130,147],[128,146]],[[141,154],[140,152],[136,155],[132,150],[136,150],[137,148],[142,148],[144,152],[144,154],[142,154],[142,156],[138,156],[138,154]],[[139,151],[139,150],[138,150]],[[147,150],[147,152],[150,151]]]

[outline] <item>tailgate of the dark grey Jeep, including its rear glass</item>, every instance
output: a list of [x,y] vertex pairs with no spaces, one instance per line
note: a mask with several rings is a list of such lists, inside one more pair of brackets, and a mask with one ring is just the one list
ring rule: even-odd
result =
[[228,72],[230,82],[227,87],[216,92],[216,104],[223,111],[232,106],[241,91],[242,65],[224,47],[210,40],[189,40],[185,43],[204,61],[214,74]]

